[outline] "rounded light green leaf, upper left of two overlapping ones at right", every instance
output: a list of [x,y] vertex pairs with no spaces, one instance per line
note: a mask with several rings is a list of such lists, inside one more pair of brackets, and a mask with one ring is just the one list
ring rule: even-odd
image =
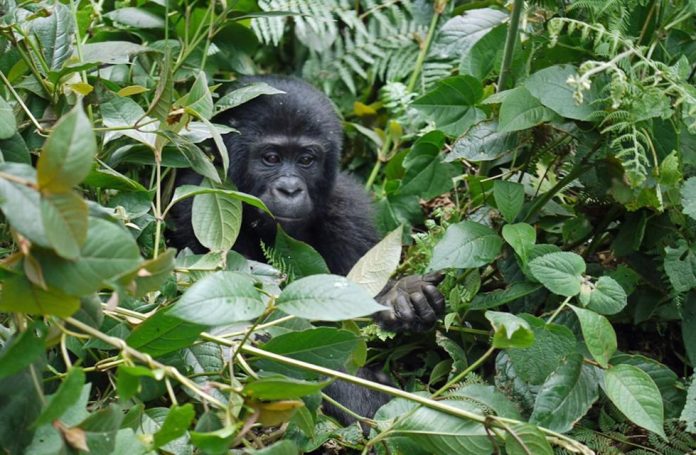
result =
[[549,291],[571,297],[580,292],[585,261],[575,253],[561,251],[531,260],[529,270]]

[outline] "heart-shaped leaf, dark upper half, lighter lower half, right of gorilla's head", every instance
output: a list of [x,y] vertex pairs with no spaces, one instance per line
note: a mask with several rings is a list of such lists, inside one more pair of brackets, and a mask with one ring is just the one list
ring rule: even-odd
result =
[[483,87],[472,76],[454,76],[435,84],[428,93],[413,101],[437,128],[450,136],[459,136],[485,119],[475,105],[483,97]]

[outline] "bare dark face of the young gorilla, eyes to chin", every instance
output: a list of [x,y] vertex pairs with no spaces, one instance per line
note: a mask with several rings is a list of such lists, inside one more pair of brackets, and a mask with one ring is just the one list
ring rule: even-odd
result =
[[283,226],[306,222],[322,191],[326,152],[305,136],[265,136],[249,150],[248,175],[255,176],[251,193],[259,197]]

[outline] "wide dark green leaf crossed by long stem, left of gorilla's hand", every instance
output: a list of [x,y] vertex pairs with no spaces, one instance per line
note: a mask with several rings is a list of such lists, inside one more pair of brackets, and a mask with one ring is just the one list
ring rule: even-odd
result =
[[[347,330],[318,327],[278,335],[264,344],[263,349],[333,370],[343,370],[359,341],[354,333]],[[303,373],[302,370],[268,360],[259,360],[257,363],[265,371],[290,376]],[[302,374],[302,377],[311,376]]]

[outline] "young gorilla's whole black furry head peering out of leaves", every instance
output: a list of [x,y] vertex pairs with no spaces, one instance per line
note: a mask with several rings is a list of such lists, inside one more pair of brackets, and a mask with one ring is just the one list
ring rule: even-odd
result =
[[[341,153],[341,122],[329,99],[290,77],[258,79],[283,94],[261,95],[223,114],[239,133],[225,138],[229,175],[259,197],[283,227],[306,225],[324,209]],[[246,78],[240,85],[257,82]]]

